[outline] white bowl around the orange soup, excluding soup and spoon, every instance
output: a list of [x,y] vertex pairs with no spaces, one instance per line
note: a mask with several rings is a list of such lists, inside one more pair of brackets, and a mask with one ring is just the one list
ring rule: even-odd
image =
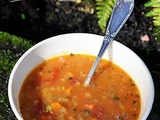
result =
[[[46,39],[25,52],[14,66],[9,79],[8,95],[16,117],[21,120],[18,94],[26,75],[43,60],[64,53],[85,53],[97,55],[103,36],[85,33],[64,34]],[[144,62],[129,48],[119,42],[112,42],[103,58],[113,61],[125,70],[137,84],[141,94],[139,120],[146,120],[154,101],[154,85]]]

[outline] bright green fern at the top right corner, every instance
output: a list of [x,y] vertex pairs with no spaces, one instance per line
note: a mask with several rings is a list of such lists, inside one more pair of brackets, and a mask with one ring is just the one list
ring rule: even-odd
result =
[[160,40],[160,1],[159,0],[150,0],[144,4],[145,7],[151,7],[152,9],[147,12],[145,15],[147,17],[153,17],[153,23],[155,26],[155,34]]

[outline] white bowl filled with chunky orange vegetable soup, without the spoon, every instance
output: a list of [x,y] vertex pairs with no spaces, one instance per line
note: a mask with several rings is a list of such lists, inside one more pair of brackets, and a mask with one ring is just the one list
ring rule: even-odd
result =
[[145,120],[154,100],[153,80],[143,61],[121,43],[111,43],[90,85],[84,85],[102,41],[94,34],[64,34],[25,52],[8,86],[16,117]]

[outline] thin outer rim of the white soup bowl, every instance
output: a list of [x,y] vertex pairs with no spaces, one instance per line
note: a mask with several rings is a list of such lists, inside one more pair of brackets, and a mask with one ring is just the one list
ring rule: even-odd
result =
[[[67,35],[91,35],[91,36],[100,36],[100,37],[103,37],[101,35],[97,35],[97,34],[91,34],[91,33],[66,33],[66,34],[61,34],[61,35],[56,35],[56,36],[53,36],[53,37],[50,37],[50,38],[47,38],[45,40],[42,40],[41,42],[33,45],[31,48],[29,48],[20,58],[19,60],[16,62],[15,66],[13,67],[12,71],[11,71],[11,74],[10,74],[10,77],[9,77],[9,82],[8,82],[8,97],[9,97],[9,103],[11,105],[11,108],[14,112],[14,114],[16,115],[16,117],[20,120],[22,119],[20,113],[18,112],[18,110],[16,109],[16,105],[14,103],[14,100],[13,100],[13,94],[12,94],[12,83],[13,83],[13,76],[15,74],[15,71],[16,69],[18,68],[19,64],[21,63],[21,61],[25,58],[25,56],[27,56],[32,50],[34,50],[35,48],[37,48],[38,46],[44,44],[45,42],[47,42],[48,40],[50,39],[53,39],[55,37],[61,37],[61,36],[67,36]],[[145,63],[142,61],[142,59],[134,52],[132,51],[130,48],[128,48],[127,46],[123,45],[122,43],[118,42],[118,41],[115,41],[114,42],[118,43],[118,44],[121,44],[123,47],[126,47],[127,49],[129,49],[131,52],[133,52],[137,57],[138,59],[140,59],[141,63],[144,64],[144,67],[146,67],[146,69],[148,70],[147,66],[145,65]],[[148,73],[150,74],[150,71],[148,70]],[[155,90],[154,90],[154,83],[153,83],[153,79],[152,79],[152,76],[150,74],[150,79],[152,81],[150,81],[152,83],[151,87],[152,87],[152,96],[151,96],[151,102],[150,102],[150,105],[148,105],[149,107],[147,107],[148,109],[146,110],[142,120],[146,120],[147,117],[149,116],[150,112],[151,112],[151,109],[153,107],[153,103],[154,103],[154,97],[155,97]]]

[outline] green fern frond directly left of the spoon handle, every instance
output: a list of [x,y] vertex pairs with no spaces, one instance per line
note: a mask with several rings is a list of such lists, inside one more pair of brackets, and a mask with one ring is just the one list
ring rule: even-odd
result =
[[110,18],[115,2],[116,0],[97,0],[96,1],[97,18],[99,19],[98,25],[102,30],[102,32],[105,32],[106,24]]

